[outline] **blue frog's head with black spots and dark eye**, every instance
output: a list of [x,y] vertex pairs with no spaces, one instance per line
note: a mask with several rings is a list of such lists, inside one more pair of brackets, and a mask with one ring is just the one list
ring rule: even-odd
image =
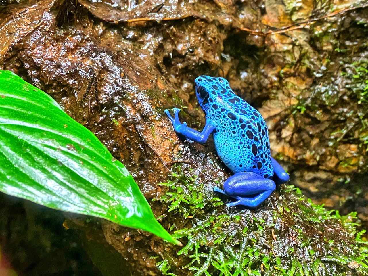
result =
[[229,82],[224,78],[199,76],[194,83],[198,103],[204,112],[207,112],[212,102],[217,102],[218,95],[226,93],[230,89]]

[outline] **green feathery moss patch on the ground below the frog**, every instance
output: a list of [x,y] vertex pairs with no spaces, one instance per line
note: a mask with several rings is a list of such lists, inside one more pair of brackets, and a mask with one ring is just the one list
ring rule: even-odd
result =
[[172,227],[183,263],[167,256],[163,275],[367,275],[368,248],[356,233],[355,213],[340,216],[282,186],[269,205],[225,208],[204,180],[180,170],[162,185],[168,216],[190,220]]

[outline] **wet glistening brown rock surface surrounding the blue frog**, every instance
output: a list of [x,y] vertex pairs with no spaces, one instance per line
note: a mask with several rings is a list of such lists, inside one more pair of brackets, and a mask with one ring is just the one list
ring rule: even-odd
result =
[[[269,127],[272,154],[284,161],[292,184],[342,214],[357,211],[367,228],[368,8],[363,1],[339,6],[332,1],[154,2],[7,3],[0,6],[0,66],[49,93],[95,133],[127,166],[167,229],[204,220],[167,214],[170,202],[158,201],[167,192],[158,184],[173,177],[178,164],[183,173],[205,183],[205,202],[211,202],[213,185],[229,176],[211,141],[183,144],[163,116],[165,108],[182,107],[188,125],[203,126],[193,90],[201,74],[227,78],[237,95],[259,109]],[[206,212],[231,213],[231,223],[223,227],[236,236],[225,244],[234,246],[236,241],[248,243],[234,227],[236,216],[242,226],[253,223],[251,217],[275,220],[262,237],[265,243],[272,240],[271,224],[283,231],[288,223],[298,225],[311,236],[325,231],[322,224],[308,228],[305,217],[306,222],[296,223],[288,212],[281,211],[283,219],[276,216],[274,210],[284,208],[286,199],[297,201],[282,190],[256,210],[221,205]],[[298,216],[300,206],[290,205]],[[128,260],[132,274],[159,274],[157,256],[171,256],[178,275],[191,273],[180,269],[189,262],[187,256],[148,233],[95,219],[89,224],[73,216],[66,222],[81,233],[98,224],[99,230],[86,236],[112,245]],[[325,224],[344,236],[338,220]],[[296,230],[283,231],[291,236],[282,235],[276,255],[290,258],[282,255],[282,244],[290,243],[295,255],[306,254],[297,250],[301,241],[294,239]],[[351,246],[349,233],[345,235]],[[204,244],[211,248],[213,241]],[[319,245],[310,246],[315,251]],[[321,256],[328,254],[326,248],[319,250]],[[359,271],[351,275],[362,275]]]

